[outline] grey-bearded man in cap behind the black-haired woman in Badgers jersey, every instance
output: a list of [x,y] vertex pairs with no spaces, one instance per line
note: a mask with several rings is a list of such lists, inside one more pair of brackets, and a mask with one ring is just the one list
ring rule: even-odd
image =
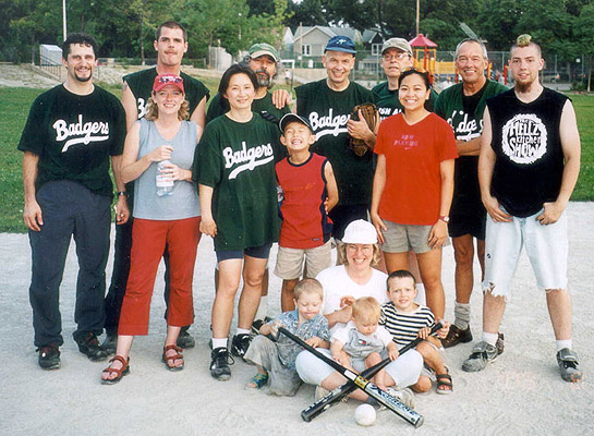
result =
[[[259,113],[265,120],[275,124],[278,124],[282,116],[291,111],[289,106],[291,96],[286,89],[277,89],[275,93],[269,92],[275,85],[279,60],[278,52],[272,46],[260,43],[250,47],[247,56],[242,62],[250,66],[258,77],[258,88],[252,104],[252,111]],[[208,106],[206,122],[210,122],[228,111],[229,104],[227,99],[217,94],[213,97],[210,106]]]

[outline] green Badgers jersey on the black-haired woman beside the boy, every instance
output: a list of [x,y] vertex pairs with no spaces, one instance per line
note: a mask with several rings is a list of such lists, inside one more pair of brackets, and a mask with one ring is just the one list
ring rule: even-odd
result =
[[211,186],[216,251],[278,241],[275,158],[278,128],[254,113],[240,123],[218,117],[206,125],[194,156],[194,178]]

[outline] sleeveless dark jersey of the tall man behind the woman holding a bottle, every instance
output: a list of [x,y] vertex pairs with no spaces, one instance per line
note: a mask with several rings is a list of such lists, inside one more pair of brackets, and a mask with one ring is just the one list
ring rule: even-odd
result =
[[[130,86],[130,90],[132,90],[132,94],[136,98],[138,118],[143,118],[146,114],[146,104],[150,98],[156,76],[157,68],[155,66],[124,75],[123,77],[123,81]],[[210,92],[201,81],[185,74],[183,71],[180,72],[180,76],[183,78],[185,99],[190,104],[190,114],[192,114],[204,97],[208,100]]]

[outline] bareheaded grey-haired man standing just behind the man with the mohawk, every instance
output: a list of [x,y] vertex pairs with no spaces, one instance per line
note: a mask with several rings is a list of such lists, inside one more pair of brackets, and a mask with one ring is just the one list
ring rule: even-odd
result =
[[[474,239],[483,275],[485,270],[487,213],[481,202],[477,174],[483,112],[488,98],[507,90],[504,85],[485,77],[487,49],[480,40],[469,38],[460,41],[456,48],[454,64],[462,83],[443,90],[435,104],[435,113],[453,129],[459,155],[448,226],[456,259],[456,319],[446,339],[441,340],[445,348],[472,340],[469,323],[470,295],[474,284]],[[504,351],[502,335],[497,348],[500,354]]]

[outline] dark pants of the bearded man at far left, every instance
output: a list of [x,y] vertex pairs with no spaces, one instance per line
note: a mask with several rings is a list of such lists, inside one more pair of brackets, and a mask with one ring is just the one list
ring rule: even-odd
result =
[[76,243],[78,277],[74,336],[104,330],[106,264],[109,254],[111,198],[90,192],[80,183],[54,181],[37,192],[44,225],[29,230],[32,280],[29,301],[33,308],[35,346],[61,346],[60,284],[71,237]]

